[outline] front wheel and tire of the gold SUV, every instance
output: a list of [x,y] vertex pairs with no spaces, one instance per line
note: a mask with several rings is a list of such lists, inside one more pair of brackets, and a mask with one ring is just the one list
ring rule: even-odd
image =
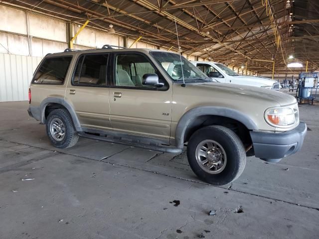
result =
[[187,159],[202,181],[220,186],[233,182],[242,174],[246,152],[235,132],[224,126],[211,125],[191,135],[187,144]]

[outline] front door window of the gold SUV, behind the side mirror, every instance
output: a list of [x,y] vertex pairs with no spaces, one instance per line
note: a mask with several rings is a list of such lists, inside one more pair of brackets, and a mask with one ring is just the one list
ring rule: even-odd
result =
[[140,54],[118,54],[115,58],[115,86],[143,87],[142,79],[145,74],[157,74],[149,60]]

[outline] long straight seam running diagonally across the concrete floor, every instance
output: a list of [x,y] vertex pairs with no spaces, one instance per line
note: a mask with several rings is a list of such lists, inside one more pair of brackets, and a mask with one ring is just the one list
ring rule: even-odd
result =
[[[89,158],[89,157],[85,157],[85,156],[78,156],[78,155],[74,155],[74,154],[70,154],[70,153],[66,153],[66,152],[61,152],[61,151],[57,151],[57,150],[47,149],[47,148],[38,147],[38,146],[32,146],[32,145],[29,145],[29,144],[24,144],[24,143],[19,143],[19,142],[15,142],[15,141],[10,141],[10,140],[6,140],[6,139],[3,139],[3,138],[2,139],[0,138],[0,140],[6,141],[6,142],[10,142],[10,143],[17,143],[17,144],[21,144],[21,145],[27,145],[27,146],[31,146],[31,147],[34,147],[34,148],[48,150],[48,151],[53,151],[53,152],[55,151],[55,152],[59,152],[61,154],[70,155],[70,156],[74,156],[74,157],[85,158],[85,159],[89,159],[89,160],[95,160],[93,158]],[[180,179],[180,180],[189,181],[189,182],[193,182],[193,183],[203,184],[203,185],[207,185],[207,186],[210,186],[210,187],[221,188],[223,190],[226,189],[226,188],[221,187],[221,186],[214,186],[214,185],[211,185],[211,184],[208,184],[208,183],[205,183],[205,182],[199,182],[199,181],[195,181],[195,180],[192,180],[192,179],[177,177],[177,176],[173,176],[173,175],[169,175],[169,174],[165,174],[165,173],[161,173],[161,172],[157,172],[157,171],[152,171],[152,170],[143,169],[143,168],[139,168],[139,167],[133,167],[133,166],[130,166],[130,165],[124,165],[124,164],[114,163],[114,162],[110,162],[110,161],[99,161],[99,160],[95,160],[95,161],[108,163],[108,164],[112,164],[112,165],[117,165],[117,166],[121,166],[121,167],[138,169],[138,170],[141,170],[141,171],[155,173],[155,174],[159,174],[159,175],[162,175],[162,176],[167,176],[167,177],[171,177],[171,178],[175,178],[175,179]],[[284,200],[281,200],[281,199],[276,199],[276,198],[266,197],[266,196],[262,196],[262,195],[258,195],[258,194],[254,194],[254,193],[248,193],[248,192],[244,192],[244,191],[239,191],[239,190],[236,190],[236,189],[228,189],[228,190],[229,191],[233,191],[233,192],[243,193],[243,194],[246,194],[246,195],[256,196],[256,197],[260,197],[260,198],[264,198],[264,199],[275,200],[277,202],[287,203],[287,204],[290,204],[290,205],[303,207],[303,208],[308,208],[308,209],[314,209],[314,210],[319,211],[319,208],[306,206],[306,205],[302,205],[302,204],[299,204],[299,203],[292,203],[292,202],[289,202],[289,201],[284,201]]]

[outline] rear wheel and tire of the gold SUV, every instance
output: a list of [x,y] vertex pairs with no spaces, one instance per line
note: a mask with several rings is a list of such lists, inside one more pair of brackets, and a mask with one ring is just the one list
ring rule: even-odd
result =
[[45,129],[51,143],[57,148],[72,147],[79,139],[72,118],[65,109],[53,110],[46,119]]

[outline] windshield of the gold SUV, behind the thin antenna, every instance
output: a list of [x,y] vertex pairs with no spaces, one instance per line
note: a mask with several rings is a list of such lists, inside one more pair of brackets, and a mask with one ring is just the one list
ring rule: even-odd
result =
[[151,54],[173,82],[183,82],[183,76],[185,82],[214,82],[183,56],[180,62],[180,56],[175,53],[153,51]]

